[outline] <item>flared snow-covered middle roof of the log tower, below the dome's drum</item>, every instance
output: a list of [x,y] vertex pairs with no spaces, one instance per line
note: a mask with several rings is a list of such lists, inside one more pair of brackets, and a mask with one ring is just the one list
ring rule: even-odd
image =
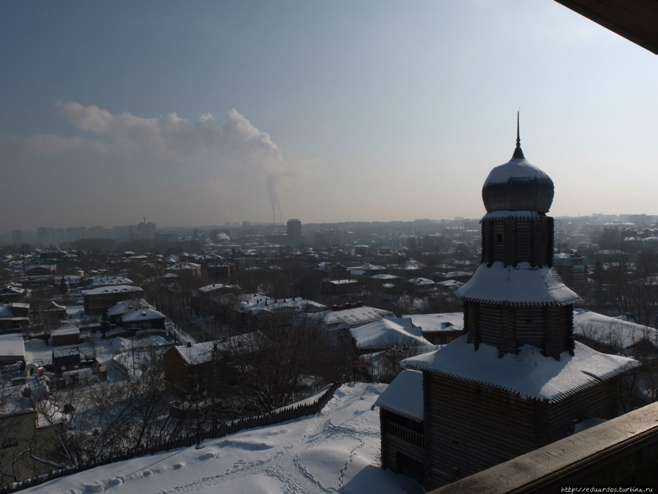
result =
[[513,305],[567,305],[580,302],[580,296],[562,283],[555,269],[533,267],[521,262],[505,267],[494,262],[481,264],[466,285],[455,294],[467,302]]

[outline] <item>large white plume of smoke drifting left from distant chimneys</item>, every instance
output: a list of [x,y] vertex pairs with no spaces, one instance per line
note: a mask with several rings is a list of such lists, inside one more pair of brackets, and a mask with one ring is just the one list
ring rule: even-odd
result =
[[284,179],[290,169],[269,134],[236,109],[226,112],[221,121],[204,113],[190,122],[176,113],[145,118],[128,112],[111,113],[77,101],[58,101],[56,107],[63,119],[93,136],[32,136],[26,145],[33,153],[146,153],[186,165],[215,163],[213,168],[222,177],[259,177],[265,183],[272,210],[281,211]]

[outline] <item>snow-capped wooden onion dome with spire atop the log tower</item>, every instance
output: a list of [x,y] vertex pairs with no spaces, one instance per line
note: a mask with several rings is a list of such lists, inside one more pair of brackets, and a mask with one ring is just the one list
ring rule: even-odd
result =
[[482,201],[487,212],[538,211],[547,213],[553,203],[553,180],[526,161],[519,137],[512,159],[492,169],[482,186]]

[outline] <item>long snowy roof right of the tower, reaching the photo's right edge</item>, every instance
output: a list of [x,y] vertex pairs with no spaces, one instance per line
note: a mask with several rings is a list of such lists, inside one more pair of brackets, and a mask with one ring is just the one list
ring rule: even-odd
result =
[[658,331],[617,317],[603,316],[590,310],[574,309],[574,335],[609,344],[613,347],[628,348],[640,341],[655,344]]

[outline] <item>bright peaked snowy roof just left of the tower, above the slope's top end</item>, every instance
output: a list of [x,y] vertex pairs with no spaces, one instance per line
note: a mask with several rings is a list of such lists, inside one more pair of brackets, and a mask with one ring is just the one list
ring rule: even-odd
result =
[[[405,321],[407,321],[405,323]],[[392,344],[425,346],[430,344],[422,337],[419,327],[411,327],[410,319],[379,319],[349,330],[359,350],[374,350]]]

